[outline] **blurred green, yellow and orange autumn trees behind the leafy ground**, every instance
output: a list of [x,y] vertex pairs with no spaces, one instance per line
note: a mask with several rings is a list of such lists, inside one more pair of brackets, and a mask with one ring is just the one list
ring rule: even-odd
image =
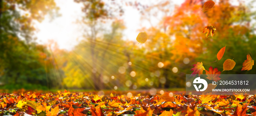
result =
[[[33,2],[36,5],[32,5]],[[33,39],[33,21],[58,14],[54,1],[1,1],[2,87],[35,84],[42,88],[95,90],[184,88],[185,74],[192,73],[190,69],[197,61],[202,61],[207,70],[212,66],[222,71],[223,62],[233,58],[234,69],[222,74],[254,74],[256,71],[255,68],[241,71],[247,53],[252,53],[252,59],[256,55],[256,13],[251,10],[255,6],[244,1],[233,5],[232,0],[219,0],[207,12],[201,11],[204,0],[185,0],[179,6],[167,0],[151,6],[139,1],[125,2],[138,9],[142,21],[152,23],[150,17],[161,14],[157,25],[139,30],[148,34],[145,44],[138,44],[136,38],[123,39],[125,22],[120,2],[74,2],[83,5],[84,15],[77,23],[82,25],[84,33],[79,44],[67,51],[59,49],[54,41],[39,45]],[[214,25],[216,32],[206,39],[202,31],[208,24]],[[225,46],[223,58],[211,63]]]

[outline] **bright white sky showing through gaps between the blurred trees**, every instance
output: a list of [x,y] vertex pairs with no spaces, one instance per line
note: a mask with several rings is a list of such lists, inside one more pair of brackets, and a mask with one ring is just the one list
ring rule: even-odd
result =
[[[71,50],[78,40],[82,38],[83,31],[80,29],[79,24],[76,20],[81,18],[84,14],[81,11],[82,4],[75,3],[73,0],[55,0],[58,7],[60,7],[59,13],[62,15],[50,21],[48,17],[41,23],[36,22],[35,28],[38,32],[35,33],[37,36],[37,42],[40,44],[46,44],[49,40],[54,40],[58,43],[60,49]],[[135,0],[129,0],[135,1]],[[173,0],[174,4],[181,4],[184,0]],[[146,1],[149,3],[149,1]],[[123,6],[124,8],[124,23],[126,29],[124,30],[123,39],[129,39],[136,41],[138,35],[138,29],[142,27],[149,27],[148,22],[140,20],[140,13],[137,9]],[[153,20],[155,24],[158,22]]]

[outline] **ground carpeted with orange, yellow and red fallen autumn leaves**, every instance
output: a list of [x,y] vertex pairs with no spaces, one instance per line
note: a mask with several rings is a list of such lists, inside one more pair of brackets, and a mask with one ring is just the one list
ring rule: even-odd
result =
[[14,116],[246,116],[256,115],[255,95],[110,95],[0,93],[0,115]]

